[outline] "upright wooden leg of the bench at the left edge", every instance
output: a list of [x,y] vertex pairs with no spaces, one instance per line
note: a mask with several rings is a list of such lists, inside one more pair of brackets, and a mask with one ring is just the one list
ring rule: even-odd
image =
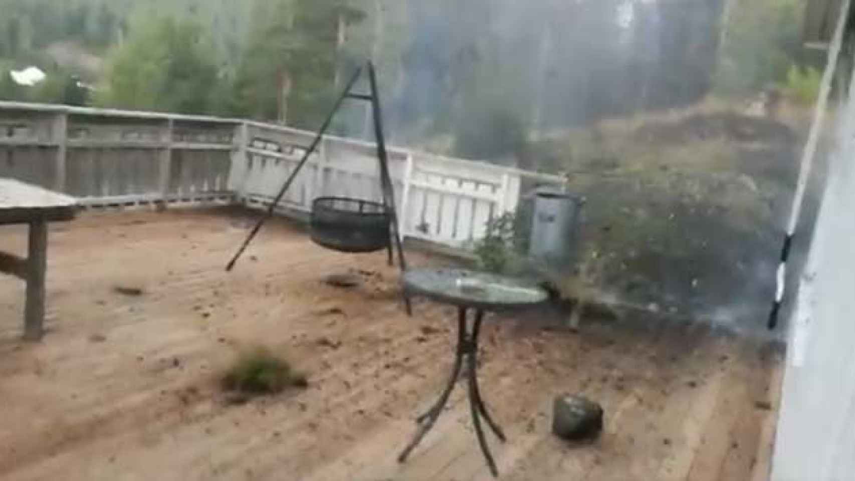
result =
[[38,341],[44,333],[44,271],[47,267],[48,228],[44,220],[30,222],[27,250],[27,304],[24,339]]

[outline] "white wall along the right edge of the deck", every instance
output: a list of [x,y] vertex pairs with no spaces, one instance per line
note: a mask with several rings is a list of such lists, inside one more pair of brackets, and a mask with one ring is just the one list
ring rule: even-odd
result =
[[787,349],[773,481],[855,480],[855,96],[802,274]]

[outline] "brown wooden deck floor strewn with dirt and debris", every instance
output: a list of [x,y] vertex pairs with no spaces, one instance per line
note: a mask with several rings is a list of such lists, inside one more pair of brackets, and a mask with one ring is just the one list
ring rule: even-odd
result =
[[[450,368],[449,309],[416,302],[408,319],[384,255],[339,255],[285,224],[225,273],[245,232],[223,211],[58,226],[37,344],[20,341],[23,286],[0,278],[0,478],[491,478],[459,387],[395,462]],[[0,228],[0,243],[23,253],[24,232]],[[367,279],[356,290],[321,282],[351,268]],[[533,320],[488,322],[482,337],[483,394],[509,437],[488,434],[501,479],[765,478],[776,349],[662,320],[586,320],[578,335]],[[285,352],[310,387],[227,404],[218,373],[254,343]],[[598,442],[551,437],[551,399],[565,391],[603,404]]]

